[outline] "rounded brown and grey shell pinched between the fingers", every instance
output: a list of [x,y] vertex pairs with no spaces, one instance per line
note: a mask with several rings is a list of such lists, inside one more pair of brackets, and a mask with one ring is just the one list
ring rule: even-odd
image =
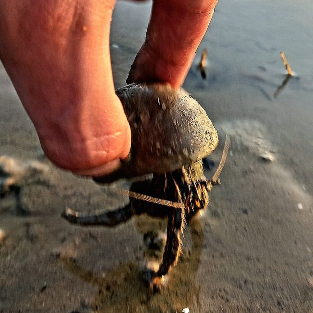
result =
[[150,173],[166,173],[208,156],[218,134],[201,105],[184,89],[161,84],[130,84],[115,90],[132,132],[131,153],[107,183]]

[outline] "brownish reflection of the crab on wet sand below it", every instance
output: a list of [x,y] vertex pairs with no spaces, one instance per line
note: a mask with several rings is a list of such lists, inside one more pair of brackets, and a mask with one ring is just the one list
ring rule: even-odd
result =
[[204,234],[201,223],[194,219],[185,232],[191,233],[192,246],[177,267],[173,268],[168,284],[160,293],[152,294],[143,281],[140,267],[132,262],[122,264],[103,275],[82,268],[70,257],[61,258],[69,272],[98,287],[91,307],[96,312],[181,312],[192,307],[199,297],[196,282]]

